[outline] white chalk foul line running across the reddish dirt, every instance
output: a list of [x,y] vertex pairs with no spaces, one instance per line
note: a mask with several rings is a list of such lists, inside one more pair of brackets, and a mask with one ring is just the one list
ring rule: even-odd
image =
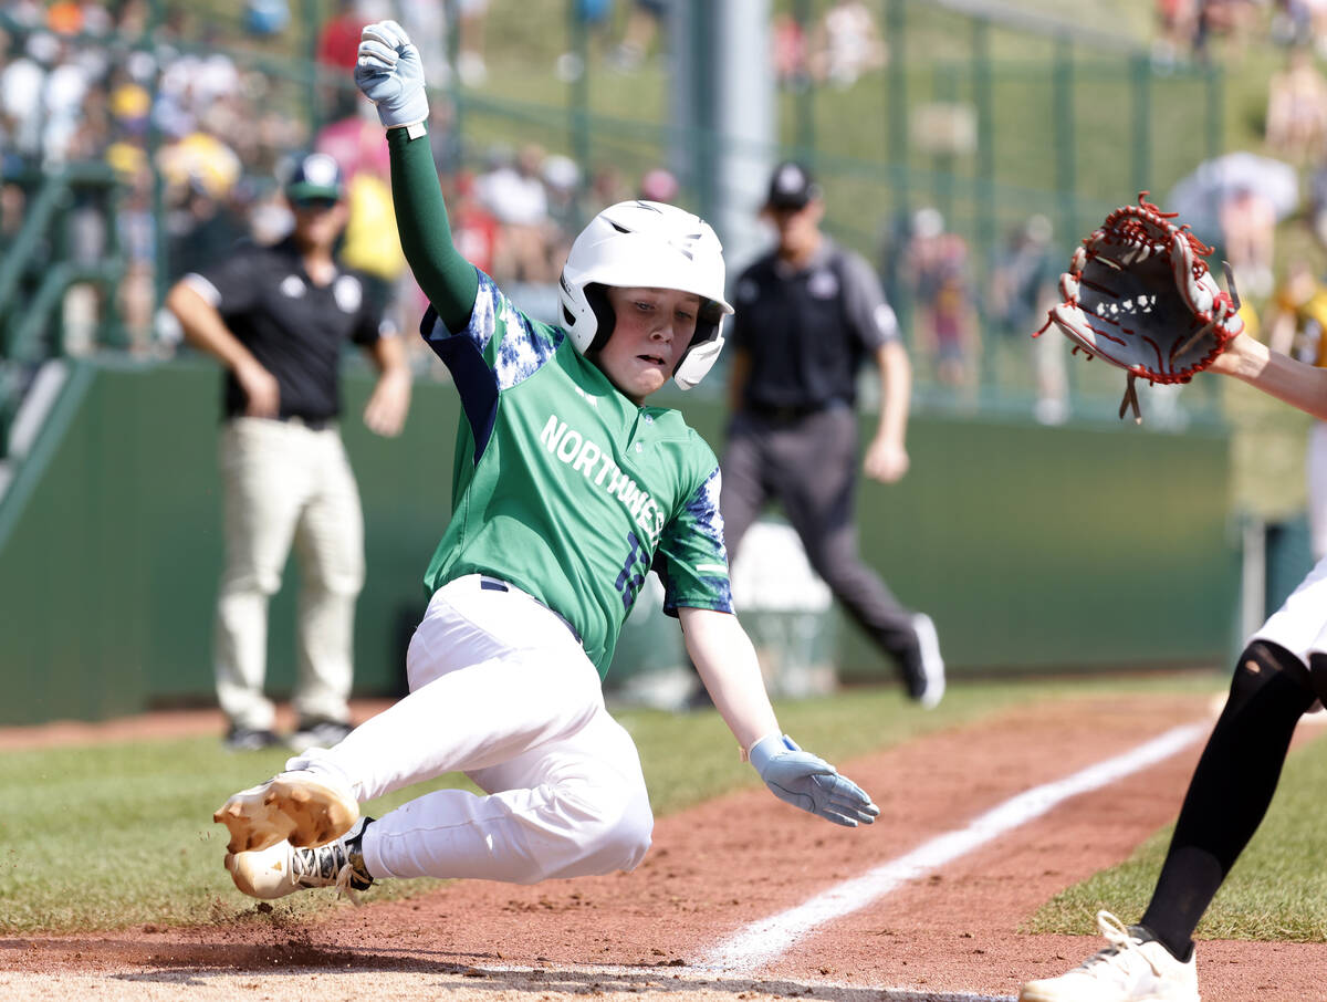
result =
[[966,828],[940,835],[905,856],[816,895],[805,904],[752,922],[719,944],[693,970],[731,973],[755,970],[780,957],[792,944],[817,926],[865,908],[898,885],[981,848],[1071,796],[1097,790],[1170,758],[1206,734],[1209,727],[1208,723],[1176,727],[1123,755],[1022,792],[975,818]]

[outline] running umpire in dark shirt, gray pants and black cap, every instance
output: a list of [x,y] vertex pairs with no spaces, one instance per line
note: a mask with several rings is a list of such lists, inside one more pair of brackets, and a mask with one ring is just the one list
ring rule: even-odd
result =
[[898,665],[926,707],[945,691],[945,664],[925,613],[898,604],[857,553],[852,522],[857,467],[856,380],[880,370],[880,422],[863,470],[892,483],[908,471],[904,445],[912,366],[871,265],[820,231],[824,203],[809,173],[779,165],[764,214],[778,247],[736,281],[723,457],[729,559],[768,500],[778,500],[811,565],[852,618]]

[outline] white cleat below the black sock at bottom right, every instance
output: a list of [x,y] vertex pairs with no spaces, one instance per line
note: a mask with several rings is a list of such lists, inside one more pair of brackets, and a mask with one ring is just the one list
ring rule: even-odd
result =
[[1027,982],[1019,1002],[1198,1002],[1193,950],[1177,961],[1141,925],[1109,912],[1097,912],[1096,925],[1111,945],[1067,974]]

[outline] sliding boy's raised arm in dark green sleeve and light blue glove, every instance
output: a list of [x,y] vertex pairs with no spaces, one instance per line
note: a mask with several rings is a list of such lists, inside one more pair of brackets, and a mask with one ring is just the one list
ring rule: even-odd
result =
[[397,230],[415,281],[449,330],[470,320],[479,276],[451,242],[429,145],[429,100],[419,50],[395,21],[364,29],[354,81],[387,129]]

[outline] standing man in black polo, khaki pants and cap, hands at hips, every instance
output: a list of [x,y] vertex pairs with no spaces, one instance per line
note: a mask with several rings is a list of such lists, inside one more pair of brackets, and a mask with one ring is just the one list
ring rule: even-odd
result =
[[268,600],[292,541],[300,597],[289,743],[330,746],[350,731],[364,518],[336,423],[344,342],[364,348],[381,373],[364,411],[369,429],[395,435],[410,406],[401,338],[369,301],[364,277],[333,256],[346,222],[336,161],[303,158],[285,196],[295,215],[289,236],[272,247],[238,246],[215,267],[186,275],[166,299],[188,341],[226,365],[226,569],[215,669],[232,749],[281,741],[263,678]]

